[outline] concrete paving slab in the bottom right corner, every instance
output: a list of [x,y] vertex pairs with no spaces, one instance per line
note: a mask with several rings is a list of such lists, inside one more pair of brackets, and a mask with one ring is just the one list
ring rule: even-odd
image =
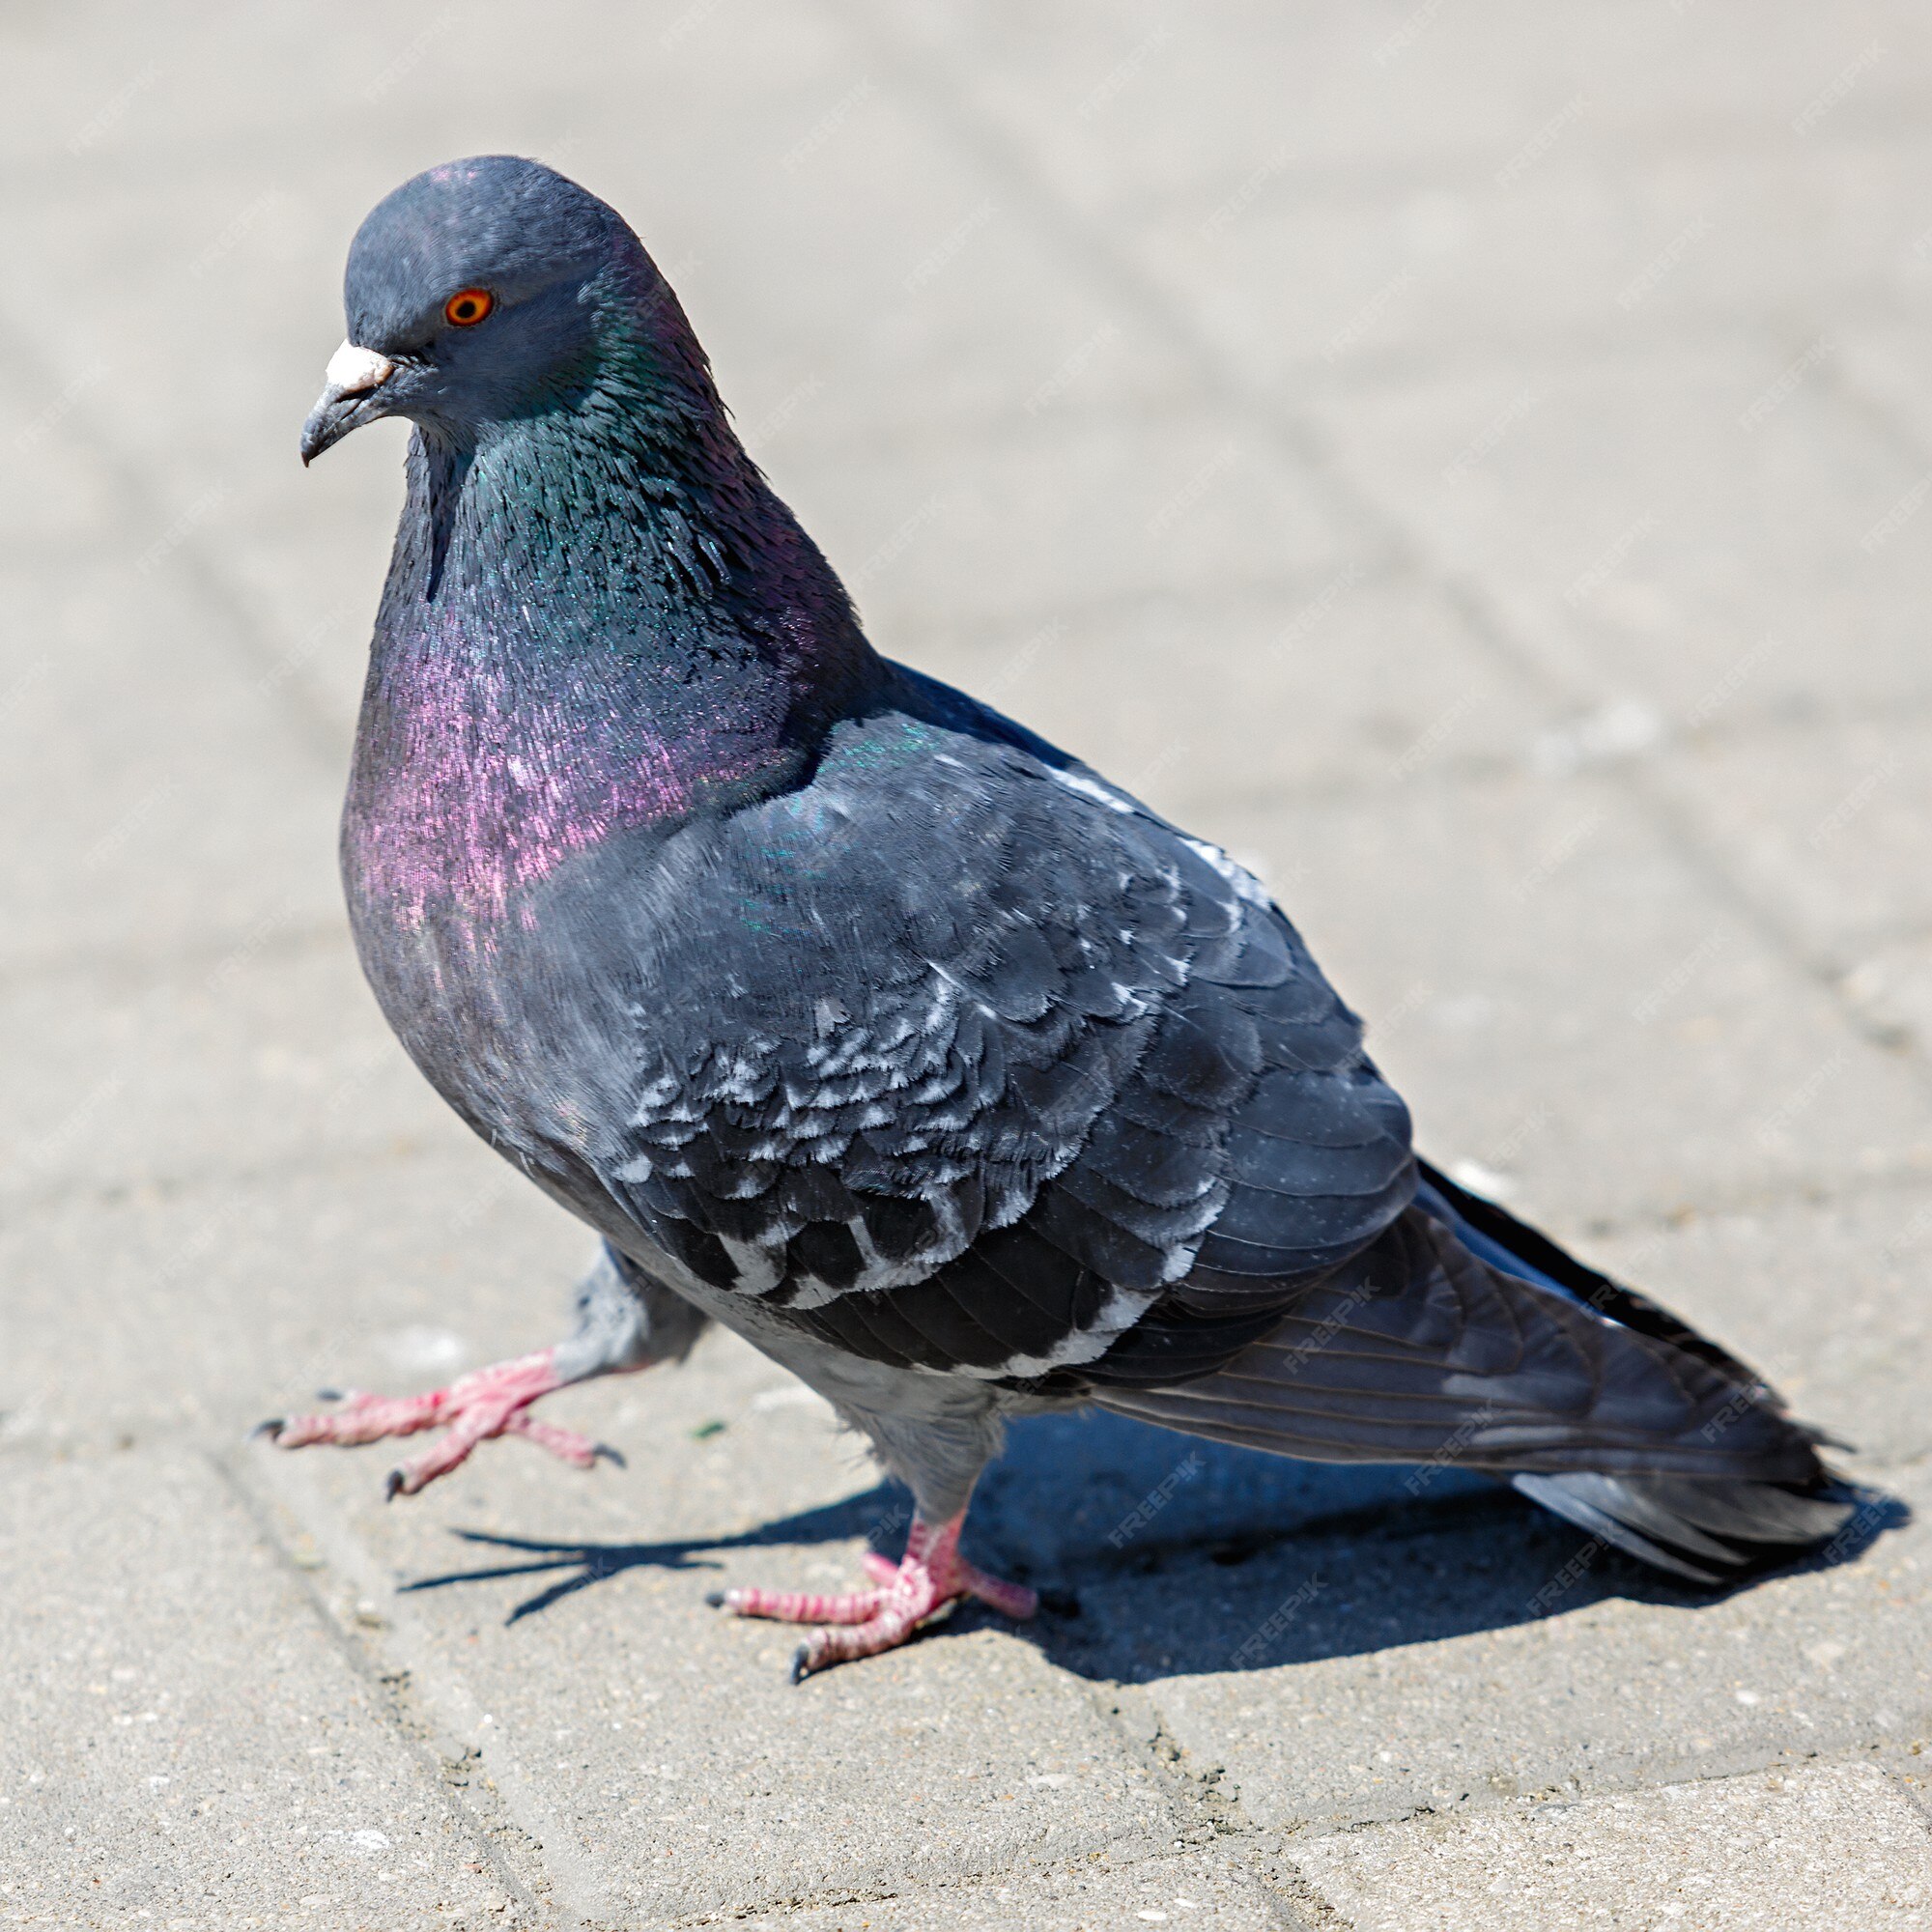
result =
[[1358,1932],[1905,1932],[1932,1913],[1924,1814],[1857,1764],[1343,1832],[1294,1862]]

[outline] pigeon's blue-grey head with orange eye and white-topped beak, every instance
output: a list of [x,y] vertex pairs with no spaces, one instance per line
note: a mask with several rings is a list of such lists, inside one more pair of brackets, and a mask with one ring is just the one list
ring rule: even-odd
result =
[[301,425],[307,464],[406,415],[473,439],[585,394],[614,334],[653,330],[667,377],[701,357],[624,218],[553,168],[452,160],[379,201],[342,278],[348,340]]

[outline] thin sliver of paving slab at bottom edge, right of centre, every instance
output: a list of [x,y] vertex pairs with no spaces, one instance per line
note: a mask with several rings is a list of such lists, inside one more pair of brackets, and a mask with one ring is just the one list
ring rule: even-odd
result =
[[1115,1932],[1198,1926],[1202,1932],[1279,1932],[1279,1899],[1231,1859],[1105,1859],[1014,1884],[960,1886],[898,1899],[856,1899],[746,1920],[746,1932]]

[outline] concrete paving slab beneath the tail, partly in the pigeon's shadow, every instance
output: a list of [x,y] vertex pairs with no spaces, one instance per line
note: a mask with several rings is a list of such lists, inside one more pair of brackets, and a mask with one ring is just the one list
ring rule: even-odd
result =
[[1217,1770],[1264,1832],[1917,1750],[1932,1737],[1928,1490],[1891,1470],[1886,1492],[1920,1520],[1888,1526],[1905,1509],[1874,1505],[1843,1561],[1721,1602],[1501,1492],[1457,1497],[1434,1524],[1090,1584],[1065,1656],[1146,1683],[1196,1776]]

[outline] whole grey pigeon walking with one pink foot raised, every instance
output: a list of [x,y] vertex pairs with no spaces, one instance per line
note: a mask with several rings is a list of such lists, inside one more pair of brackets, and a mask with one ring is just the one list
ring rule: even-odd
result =
[[1034,1590],[960,1551],[1007,1418],[1101,1408],[1482,1470],[1698,1584],[1845,1524],[1735,1356],[1416,1155],[1267,891],[879,655],[624,218],[458,160],[367,216],[311,462],[413,425],[342,823],[363,970],[437,1092],[601,1236],[576,1331],[284,1449],[599,1445],[547,1393],[713,1321],[912,1492],[794,1681]]

